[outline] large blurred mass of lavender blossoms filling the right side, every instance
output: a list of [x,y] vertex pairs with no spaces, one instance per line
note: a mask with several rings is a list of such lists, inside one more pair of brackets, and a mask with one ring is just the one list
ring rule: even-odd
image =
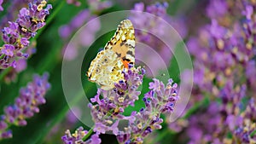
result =
[[189,52],[195,57],[190,105],[211,100],[180,130],[190,144],[256,143],[255,8],[251,0],[211,0],[207,16],[212,23],[189,38]]

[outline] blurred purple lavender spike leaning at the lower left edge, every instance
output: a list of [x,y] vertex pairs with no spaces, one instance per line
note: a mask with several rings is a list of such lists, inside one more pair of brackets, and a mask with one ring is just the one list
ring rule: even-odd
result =
[[44,95],[49,90],[48,74],[42,77],[35,75],[32,83],[26,88],[20,89],[20,95],[15,99],[15,104],[5,107],[4,114],[0,116],[0,140],[11,138],[11,125],[24,126],[26,118],[31,118],[35,112],[39,112],[39,105],[44,104]]

